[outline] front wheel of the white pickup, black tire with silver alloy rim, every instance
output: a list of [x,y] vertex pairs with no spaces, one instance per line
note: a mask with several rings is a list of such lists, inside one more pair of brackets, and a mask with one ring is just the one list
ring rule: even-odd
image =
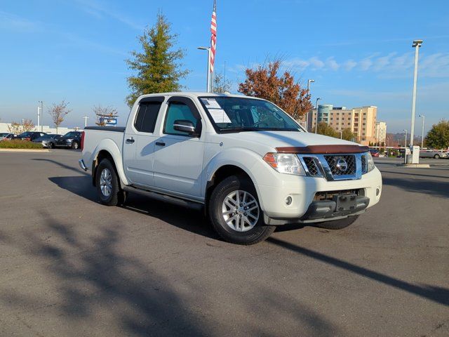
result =
[[[237,209],[235,205],[239,200],[243,202]],[[232,244],[257,244],[267,239],[275,230],[274,226],[265,225],[257,192],[249,178],[226,178],[215,187],[208,204],[209,218],[215,232]],[[245,207],[248,211],[244,210]]]

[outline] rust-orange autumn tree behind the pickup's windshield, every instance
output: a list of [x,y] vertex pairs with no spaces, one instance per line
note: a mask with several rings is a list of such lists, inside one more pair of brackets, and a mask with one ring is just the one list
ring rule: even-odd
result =
[[299,119],[312,109],[310,94],[295,81],[290,72],[279,75],[280,67],[281,60],[274,60],[268,65],[247,69],[246,80],[239,84],[239,92],[269,100],[294,119]]

